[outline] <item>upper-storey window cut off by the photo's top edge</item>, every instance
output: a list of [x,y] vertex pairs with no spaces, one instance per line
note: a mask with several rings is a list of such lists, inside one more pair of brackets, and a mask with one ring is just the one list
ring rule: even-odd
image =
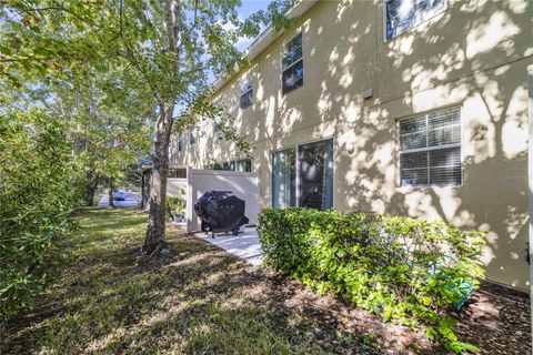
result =
[[386,40],[444,11],[446,2],[447,0],[385,0]]

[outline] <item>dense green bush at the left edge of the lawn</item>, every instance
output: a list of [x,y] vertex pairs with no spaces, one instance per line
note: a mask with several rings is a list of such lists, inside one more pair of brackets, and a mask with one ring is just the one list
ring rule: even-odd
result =
[[58,276],[58,239],[72,229],[77,170],[63,123],[43,112],[0,114],[0,323]]

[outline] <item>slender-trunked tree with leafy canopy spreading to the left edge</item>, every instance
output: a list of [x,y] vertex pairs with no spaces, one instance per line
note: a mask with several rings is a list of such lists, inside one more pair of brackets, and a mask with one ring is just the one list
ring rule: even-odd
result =
[[[213,77],[227,74],[247,59],[234,44],[259,33],[260,23],[286,24],[284,11],[294,0],[274,0],[268,11],[239,18],[240,0],[8,0],[7,21],[12,32],[0,42],[0,71],[11,80],[9,64],[52,77],[105,72],[107,64],[123,70],[115,81],[142,92],[154,108],[152,186],[144,252],[164,245],[164,204],[169,143],[175,130],[212,118],[220,108],[209,102]],[[16,49],[14,51],[12,49]],[[90,69],[90,70],[89,70]],[[132,101],[133,98],[124,98]],[[188,114],[194,112],[197,114]],[[180,118],[180,120],[177,120]],[[230,139],[239,139],[229,134]]]

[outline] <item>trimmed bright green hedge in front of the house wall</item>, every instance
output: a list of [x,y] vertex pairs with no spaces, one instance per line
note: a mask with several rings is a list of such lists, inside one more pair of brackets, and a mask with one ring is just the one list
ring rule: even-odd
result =
[[308,209],[263,210],[258,231],[265,265],[384,322],[422,324],[454,352],[475,348],[457,339],[450,311],[483,276],[482,233],[440,221]]

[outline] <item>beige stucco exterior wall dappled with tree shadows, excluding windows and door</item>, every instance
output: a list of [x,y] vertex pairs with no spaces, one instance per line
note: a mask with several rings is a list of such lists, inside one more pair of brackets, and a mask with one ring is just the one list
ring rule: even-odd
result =
[[[450,0],[444,12],[384,41],[381,0],[319,1],[213,95],[251,143],[261,205],[270,206],[272,151],[333,138],[335,209],[486,231],[487,278],[526,288],[532,18],[529,0]],[[282,48],[299,31],[304,83],[282,95]],[[241,110],[244,78],[253,104]],[[461,108],[462,185],[400,186],[398,120],[446,106]],[[173,144],[173,164],[239,158],[234,143],[202,124],[194,145],[188,134],[182,152]]]

